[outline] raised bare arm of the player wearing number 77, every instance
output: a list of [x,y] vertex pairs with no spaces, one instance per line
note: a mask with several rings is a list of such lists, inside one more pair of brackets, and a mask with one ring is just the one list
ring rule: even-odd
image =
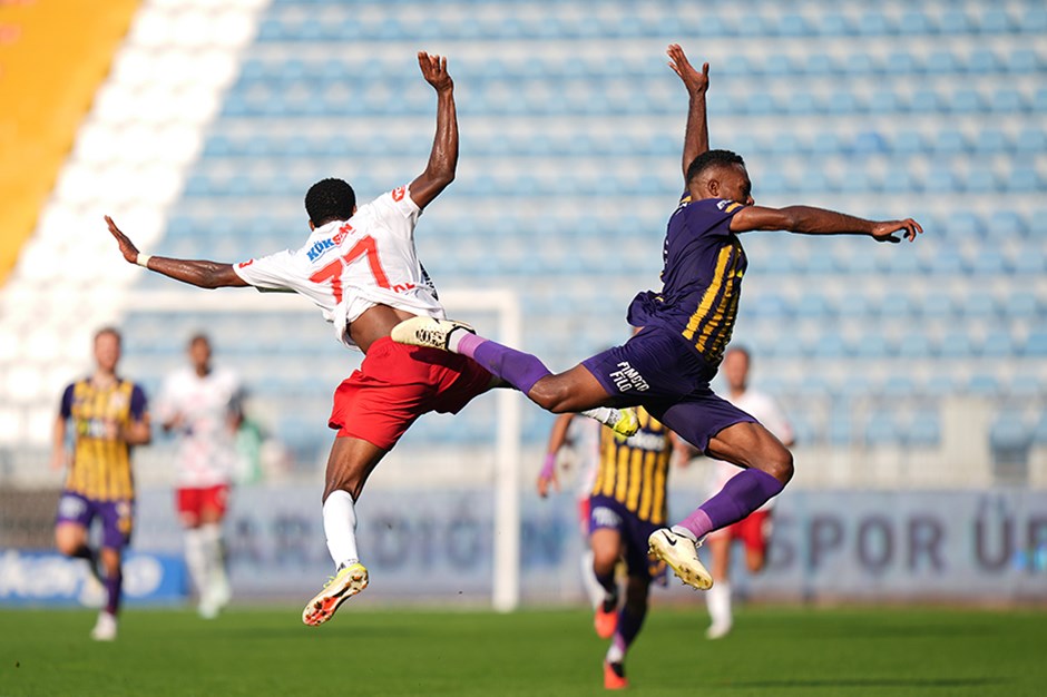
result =
[[437,135],[429,154],[425,171],[411,181],[411,199],[419,208],[428,206],[454,180],[458,169],[458,111],[454,107],[454,81],[447,71],[447,58],[418,53],[418,66],[425,81],[437,90]]

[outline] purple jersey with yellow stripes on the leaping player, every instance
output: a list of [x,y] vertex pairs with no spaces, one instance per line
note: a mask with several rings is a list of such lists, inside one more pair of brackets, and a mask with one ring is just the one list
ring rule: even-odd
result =
[[747,266],[730,228],[742,208],[723,198],[681,200],[665,235],[662,292],[640,293],[629,305],[629,324],[678,333],[714,369],[731,341]]

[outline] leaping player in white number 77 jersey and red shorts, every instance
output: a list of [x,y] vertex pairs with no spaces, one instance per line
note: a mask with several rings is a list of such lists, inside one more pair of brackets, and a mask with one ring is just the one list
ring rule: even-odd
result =
[[[443,318],[429,275],[414,249],[419,215],[454,179],[458,117],[447,59],[418,53],[425,81],[437,91],[437,132],[425,170],[410,184],[356,207],[341,179],[314,184],[305,196],[312,233],[299,249],[253,258],[235,266],[139,254],[106,217],[124,258],[203,288],[255,286],[300,293],[334,324],[339,341],[365,356],[360,370],[334,394],[329,425],[337,430],[323,493],[327,549],[337,571],[302,613],[310,626],[327,621],[351,596],[368,586],[356,551],[354,502],[368,477],[420,415],[457,413],[472,397],[502,382],[471,359],[394,343],[389,333],[414,316]],[[594,410],[594,418],[632,434],[632,412]]]

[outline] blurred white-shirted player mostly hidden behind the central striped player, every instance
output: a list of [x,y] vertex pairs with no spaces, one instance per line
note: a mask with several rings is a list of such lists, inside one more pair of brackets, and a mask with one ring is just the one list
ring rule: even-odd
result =
[[[600,424],[591,419],[577,419],[578,414],[560,414],[552,422],[549,432],[549,445],[541,471],[538,473],[538,495],[549,495],[550,489],[559,491],[557,460],[560,453],[569,451],[571,467],[575,470],[575,491],[577,492],[578,522],[585,547],[581,552],[581,581],[589,602],[596,609],[604,601],[604,589],[593,573],[593,548],[589,546],[589,493],[596,481],[600,457]],[[605,637],[606,638],[606,637]]]

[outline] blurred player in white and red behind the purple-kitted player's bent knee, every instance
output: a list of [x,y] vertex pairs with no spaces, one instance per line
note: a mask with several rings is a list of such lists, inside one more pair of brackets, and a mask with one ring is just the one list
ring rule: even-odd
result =
[[[721,366],[727,381],[727,401],[752,414],[760,423],[777,438],[785,448],[792,448],[795,439],[793,429],[770,395],[748,385],[748,370],[752,365],[750,353],[742,346],[732,346],[724,354]],[[741,472],[738,468],[723,460],[712,462],[712,492],[721,491],[731,479]],[[720,639],[731,631],[734,622],[731,612],[731,549],[734,541],[745,546],[745,566],[752,573],[763,570],[767,558],[767,542],[771,538],[771,513],[775,499],[736,523],[711,532],[705,538],[712,558],[711,572],[713,587],[705,596],[712,625],[705,636]]]

